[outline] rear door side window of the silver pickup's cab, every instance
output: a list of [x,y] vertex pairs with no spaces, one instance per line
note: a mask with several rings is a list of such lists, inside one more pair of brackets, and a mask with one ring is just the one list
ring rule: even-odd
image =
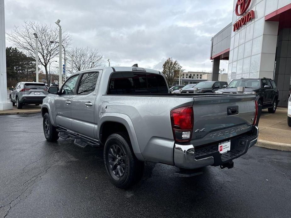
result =
[[88,95],[95,90],[99,72],[86,73],[82,75],[77,95]]

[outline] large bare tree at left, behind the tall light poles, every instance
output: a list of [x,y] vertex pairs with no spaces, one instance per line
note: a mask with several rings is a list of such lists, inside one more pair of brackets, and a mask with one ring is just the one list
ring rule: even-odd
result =
[[[7,33],[9,41],[22,51],[26,51],[29,56],[35,57],[35,37],[38,37],[38,61],[45,68],[46,79],[48,81],[48,64],[59,54],[59,44],[50,41],[59,41],[59,28],[47,24],[40,24],[34,21],[24,21],[21,28],[14,26],[10,33]],[[62,45],[70,46],[71,35],[62,33]]]

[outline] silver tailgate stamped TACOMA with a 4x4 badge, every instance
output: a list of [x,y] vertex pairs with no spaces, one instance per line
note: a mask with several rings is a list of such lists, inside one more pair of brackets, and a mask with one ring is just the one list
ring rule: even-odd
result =
[[252,129],[255,95],[193,97],[194,125],[191,143],[195,147],[227,140]]

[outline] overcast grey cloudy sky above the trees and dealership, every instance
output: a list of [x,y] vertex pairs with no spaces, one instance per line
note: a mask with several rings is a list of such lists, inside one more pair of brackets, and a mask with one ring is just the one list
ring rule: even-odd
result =
[[210,40],[232,21],[232,7],[232,0],[5,0],[5,24],[8,32],[23,20],[60,19],[73,46],[98,48],[112,65],[161,70],[173,57],[186,71],[211,71]]

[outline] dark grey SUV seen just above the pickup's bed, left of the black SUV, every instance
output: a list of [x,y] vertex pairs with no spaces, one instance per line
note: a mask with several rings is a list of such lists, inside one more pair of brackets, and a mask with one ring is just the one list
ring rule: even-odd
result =
[[[214,93],[216,90],[221,89],[224,85],[227,85],[227,82],[205,81],[195,85],[195,88],[198,88],[197,93]],[[194,92],[193,88],[182,90],[182,93],[193,93],[193,92]]]

